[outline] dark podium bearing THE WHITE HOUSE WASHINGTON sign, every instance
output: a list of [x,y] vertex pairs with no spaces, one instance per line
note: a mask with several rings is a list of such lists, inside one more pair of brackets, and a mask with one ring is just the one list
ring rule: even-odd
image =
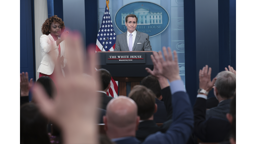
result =
[[[107,51],[97,52],[95,54],[98,55],[99,58],[99,63],[96,65],[96,68],[108,70],[112,77],[146,77],[149,74],[145,68],[148,67],[153,70],[154,67],[150,58],[150,55],[153,54],[152,51]],[[120,58],[118,56],[120,56]],[[121,56],[123,57],[121,58]]]

